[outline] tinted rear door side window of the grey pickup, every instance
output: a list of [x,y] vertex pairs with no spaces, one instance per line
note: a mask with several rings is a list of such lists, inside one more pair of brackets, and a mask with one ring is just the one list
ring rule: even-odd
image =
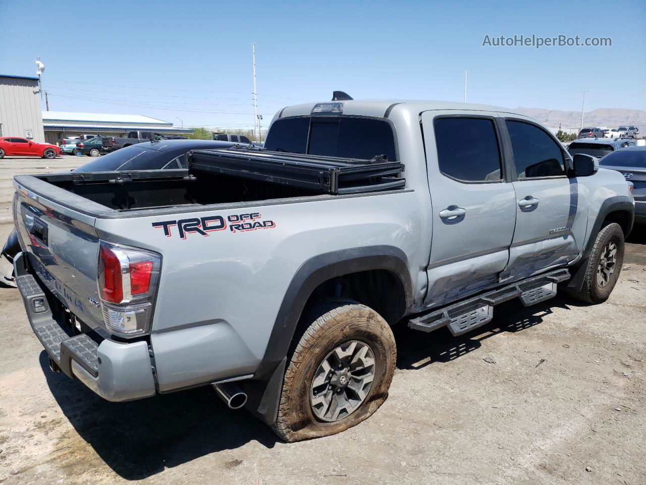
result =
[[[441,173],[466,182],[501,180],[501,157],[491,118],[437,118],[433,122]],[[463,136],[468,134],[469,142]]]

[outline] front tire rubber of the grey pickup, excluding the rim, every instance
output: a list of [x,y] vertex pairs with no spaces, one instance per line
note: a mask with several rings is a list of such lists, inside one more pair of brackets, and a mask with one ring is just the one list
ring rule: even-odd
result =
[[[601,287],[597,281],[597,270],[603,252],[609,242],[616,244],[616,261],[614,263],[614,271],[610,275],[607,285]],[[568,295],[585,303],[603,303],[606,301],[619,279],[621,266],[623,265],[624,250],[625,242],[621,226],[616,222],[611,222],[603,226],[594,239],[590,256],[585,263],[585,277],[581,290],[568,290]]]

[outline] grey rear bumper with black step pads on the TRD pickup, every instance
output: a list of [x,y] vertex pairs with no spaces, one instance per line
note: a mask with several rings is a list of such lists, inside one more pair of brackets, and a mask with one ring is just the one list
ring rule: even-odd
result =
[[68,324],[61,303],[30,271],[26,253],[16,256],[14,268],[29,323],[61,372],[78,378],[109,401],[131,401],[156,393],[145,341],[119,343],[94,333],[78,334]]

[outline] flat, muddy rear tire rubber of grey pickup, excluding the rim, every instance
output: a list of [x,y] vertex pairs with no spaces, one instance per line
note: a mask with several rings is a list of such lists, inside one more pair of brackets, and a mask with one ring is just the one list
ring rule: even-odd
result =
[[[355,301],[335,299],[317,305],[302,323],[306,328],[291,349],[273,424],[276,435],[287,442],[335,435],[373,415],[388,397],[397,360],[395,338],[388,323],[375,310]],[[322,360],[346,341],[360,341],[372,350],[373,384],[355,411],[337,421],[324,422],[311,409],[312,380]]]

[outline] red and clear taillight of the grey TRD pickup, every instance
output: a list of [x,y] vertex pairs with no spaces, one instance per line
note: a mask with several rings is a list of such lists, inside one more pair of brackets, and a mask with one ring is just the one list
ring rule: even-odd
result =
[[122,337],[150,331],[161,256],[101,241],[98,294],[105,326]]

